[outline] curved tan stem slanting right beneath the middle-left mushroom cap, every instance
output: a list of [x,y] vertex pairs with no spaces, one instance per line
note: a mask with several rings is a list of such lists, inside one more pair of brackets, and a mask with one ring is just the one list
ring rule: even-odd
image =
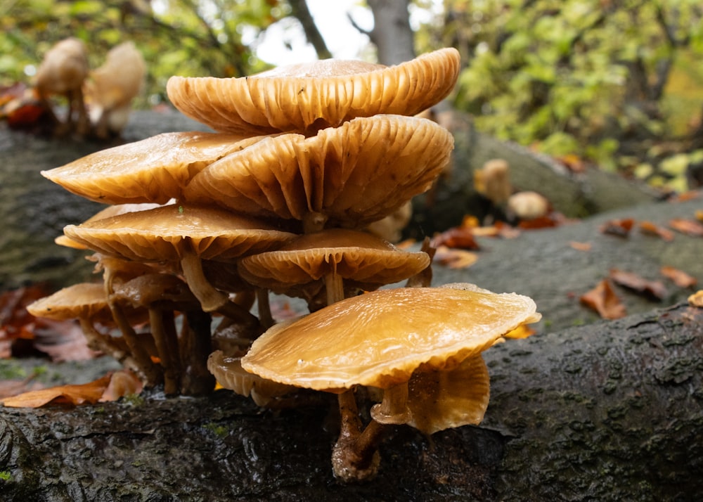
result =
[[188,288],[191,288],[193,295],[200,301],[200,306],[205,312],[217,311],[227,317],[238,321],[257,322],[257,318],[240,305],[231,302],[228,295],[215,289],[205,278],[202,271],[202,261],[195,252],[185,250],[181,257],[181,269],[186,277]]

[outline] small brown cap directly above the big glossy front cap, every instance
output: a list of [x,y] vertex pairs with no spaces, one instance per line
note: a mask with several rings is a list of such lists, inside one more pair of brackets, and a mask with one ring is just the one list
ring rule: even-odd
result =
[[326,273],[375,289],[411,277],[429,264],[425,252],[399,250],[366,232],[328,229],[298,236],[278,250],[243,258],[238,267],[245,281],[285,292],[291,285],[318,281]]

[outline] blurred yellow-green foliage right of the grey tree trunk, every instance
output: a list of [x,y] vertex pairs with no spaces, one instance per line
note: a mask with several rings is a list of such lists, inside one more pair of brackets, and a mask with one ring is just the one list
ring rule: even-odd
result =
[[[646,162],[659,172],[666,157],[695,148],[695,139],[683,136],[703,108],[699,2],[445,0],[444,6],[444,29],[437,30],[437,20],[421,28],[419,50],[460,50],[464,67],[454,102],[475,115],[479,129],[627,172],[640,172],[636,165]],[[677,77],[690,84],[685,92],[672,85]],[[673,151],[648,153],[672,139]],[[681,171],[664,169],[672,181],[665,185],[681,188]]]

